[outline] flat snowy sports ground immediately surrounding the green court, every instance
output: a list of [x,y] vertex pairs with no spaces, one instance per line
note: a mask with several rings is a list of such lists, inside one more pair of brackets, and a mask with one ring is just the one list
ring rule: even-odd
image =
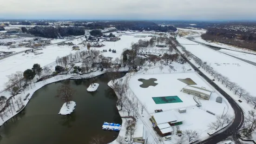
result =
[[[157,79],[156,86],[149,86],[148,88],[142,88],[139,85],[143,84],[138,79]],[[182,107],[194,107],[197,103],[193,100],[192,95],[188,95],[184,92],[180,92],[186,84],[177,79],[192,79],[199,87],[203,86],[211,90],[208,85],[200,79],[194,72],[190,73],[174,73],[174,74],[147,74],[136,75],[131,77],[129,86],[131,91],[138,97],[141,103],[145,103],[148,106],[149,113],[154,113],[155,110],[162,109],[163,111],[177,109]],[[170,104],[155,104],[153,97],[167,97],[178,96],[182,103],[170,103]]]

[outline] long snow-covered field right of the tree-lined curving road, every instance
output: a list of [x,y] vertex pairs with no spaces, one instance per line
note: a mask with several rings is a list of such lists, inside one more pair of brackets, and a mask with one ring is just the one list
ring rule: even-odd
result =
[[[180,43],[191,44],[192,41],[184,38],[177,38]],[[196,43],[195,43],[196,44]],[[251,95],[256,96],[256,89],[253,85],[256,82],[256,66],[230,57],[224,53],[217,52],[202,45],[183,45],[186,50],[206,61],[207,64],[217,72],[228,77],[230,81],[242,86]]]

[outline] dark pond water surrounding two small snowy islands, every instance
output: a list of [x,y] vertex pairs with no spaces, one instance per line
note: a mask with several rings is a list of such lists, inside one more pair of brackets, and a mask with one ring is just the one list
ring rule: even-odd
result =
[[[119,78],[124,73],[119,73]],[[70,82],[75,89],[74,112],[59,115],[64,101],[57,98],[60,85]],[[107,75],[98,76],[97,92],[87,92],[88,80],[63,80],[46,85],[33,94],[16,120],[0,127],[0,144],[89,144],[92,137],[104,137],[106,143],[117,136],[116,131],[103,131],[103,122],[122,123],[116,108],[117,97],[107,85]]]

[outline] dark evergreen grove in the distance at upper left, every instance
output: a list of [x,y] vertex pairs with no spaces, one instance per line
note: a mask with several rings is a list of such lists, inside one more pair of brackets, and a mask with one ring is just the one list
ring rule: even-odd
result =
[[77,26],[67,26],[59,28],[55,28],[53,26],[34,26],[28,30],[25,27],[22,27],[21,30],[23,33],[30,33],[43,38],[58,38],[59,35],[61,37],[64,37],[70,35],[78,36],[85,34],[85,29],[83,27]]

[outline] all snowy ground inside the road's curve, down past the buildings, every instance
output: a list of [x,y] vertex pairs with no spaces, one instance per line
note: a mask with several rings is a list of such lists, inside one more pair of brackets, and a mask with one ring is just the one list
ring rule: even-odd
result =
[[[155,83],[158,83],[156,86],[149,86],[148,88],[142,88],[139,85],[142,82],[138,79],[158,79]],[[199,98],[201,107],[196,106],[196,102],[193,99],[192,95],[181,92],[182,88],[186,86],[183,82],[177,79],[192,79],[197,85],[203,86],[208,90],[213,92],[210,95],[209,100]],[[196,130],[200,133],[201,137],[207,137],[207,132],[211,131],[208,127],[210,122],[216,120],[216,116],[211,115],[206,112],[211,111],[216,115],[221,115],[223,110],[224,113],[229,113],[233,115],[233,109],[230,104],[227,103],[227,100],[218,93],[210,84],[195,72],[181,72],[181,73],[171,73],[171,74],[135,74],[132,76],[129,82],[129,87],[131,91],[139,99],[140,103],[147,105],[147,110],[149,113],[154,113],[154,110],[162,109],[163,111],[174,110],[178,111],[179,108],[186,108],[187,112],[182,113],[182,117],[185,119],[183,124],[179,125],[182,131],[191,129]],[[155,104],[152,97],[165,97],[165,96],[178,96],[183,102],[181,103],[170,103],[170,104]],[[223,103],[217,103],[216,98],[220,96],[223,98]]]

